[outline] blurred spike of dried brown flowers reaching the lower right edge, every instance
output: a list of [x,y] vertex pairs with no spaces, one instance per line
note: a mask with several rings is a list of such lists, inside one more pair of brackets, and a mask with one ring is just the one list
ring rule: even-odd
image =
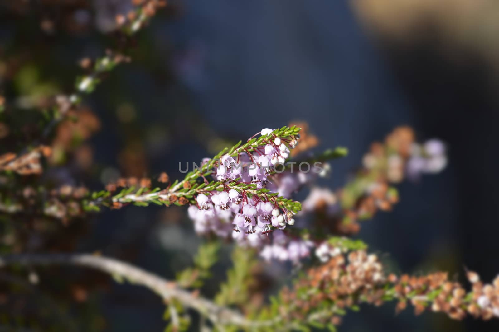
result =
[[[344,315],[346,308],[357,310],[363,302],[379,306],[387,301],[398,301],[397,312],[411,303],[416,315],[429,309],[456,320],[467,315],[483,320],[499,318],[499,276],[492,284],[482,283],[475,272],[469,271],[467,277],[472,284],[470,291],[450,281],[445,272],[398,277],[385,272],[377,255],[358,250],[336,254],[309,269],[293,290],[281,292],[280,299],[291,320],[314,317],[319,323]],[[321,317],[321,313],[326,315]]]

